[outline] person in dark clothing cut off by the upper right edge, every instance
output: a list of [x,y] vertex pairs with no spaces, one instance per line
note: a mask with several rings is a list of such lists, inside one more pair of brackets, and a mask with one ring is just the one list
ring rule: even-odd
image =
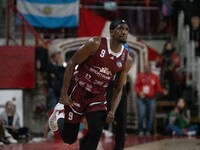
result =
[[191,19],[190,40],[195,42],[195,56],[200,56],[200,18],[194,16]]

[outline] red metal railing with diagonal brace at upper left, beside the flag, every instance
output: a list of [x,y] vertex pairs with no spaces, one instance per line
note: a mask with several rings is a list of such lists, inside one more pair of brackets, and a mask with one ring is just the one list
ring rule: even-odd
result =
[[[14,15],[13,15],[14,14]],[[7,0],[7,9],[6,9],[6,45],[9,46],[10,45],[10,41],[14,41],[15,43],[17,43],[17,39],[16,37],[11,35],[11,27],[14,26],[14,24],[11,24],[11,19],[13,19],[13,17],[18,16],[18,18],[20,19],[20,28],[21,28],[21,44],[20,46],[25,46],[25,38],[26,38],[26,33],[29,31],[35,40],[35,46],[38,45],[43,45],[44,47],[48,47],[48,43],[50,42],[49,40],[45,40],[43,37],[41,37],[41,35],[34,29],[34,27],[32,27],[27,20],[24,18],[24,16],[18,11],[17,7],[16,7],[16,0]],[[26,30],[26,28],[28,29],[28,31]]]

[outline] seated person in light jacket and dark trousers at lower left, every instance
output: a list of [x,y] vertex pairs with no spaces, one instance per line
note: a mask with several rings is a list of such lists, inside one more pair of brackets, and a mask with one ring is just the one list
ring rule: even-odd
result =
[[0,114],[4,128],[18,140],[20,137],[28,138],[28,128],[20,126],[20,118],[12,101],[7,101],[5,110]]

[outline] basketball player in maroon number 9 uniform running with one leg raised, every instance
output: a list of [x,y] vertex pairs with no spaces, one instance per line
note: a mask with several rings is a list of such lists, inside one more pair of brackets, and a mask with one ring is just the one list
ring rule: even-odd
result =
[[[123,46],[128,30],[126,21],[113,21],[110,38],[91,38],[68,62],[59,103],[49,118],[50,129],[58,129],[65,143],[76,141],[81,119],[85,116],[88,132],[80,141],[80,150],[96,150],[106,121],[112,123],[114,120],[132,64]],[[107,113],[106,90],[116,73],[120,75],[114,87],[111,109]]]

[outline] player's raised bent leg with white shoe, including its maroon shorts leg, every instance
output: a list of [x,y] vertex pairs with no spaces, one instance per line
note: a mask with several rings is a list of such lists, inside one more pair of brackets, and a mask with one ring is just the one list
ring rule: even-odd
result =
[[65,143],[72,144],[77,140],[79,125],[85,109],[84,97],[86,93],[87,91],[84,88],[79,86],[75,80],[72,80],[68,95],[71,97],[74,105],[64,106],[58,103],[49,119],[50,129],[58,129]]

